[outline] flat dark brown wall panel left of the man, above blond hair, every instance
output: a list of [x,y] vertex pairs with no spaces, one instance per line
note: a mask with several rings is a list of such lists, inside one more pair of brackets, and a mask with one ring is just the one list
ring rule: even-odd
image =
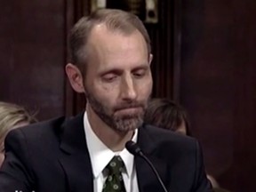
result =
[[0,100],[60,116],[65,100],[65,4],[1,1]]

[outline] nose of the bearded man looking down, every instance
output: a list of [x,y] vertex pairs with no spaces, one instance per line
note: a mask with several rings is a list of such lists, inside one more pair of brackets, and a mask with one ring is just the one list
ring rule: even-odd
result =
[[135,100],[137,98],[137,91],[134,86],[132,76],[125,76],[121,84],[121,98],[122,100]]

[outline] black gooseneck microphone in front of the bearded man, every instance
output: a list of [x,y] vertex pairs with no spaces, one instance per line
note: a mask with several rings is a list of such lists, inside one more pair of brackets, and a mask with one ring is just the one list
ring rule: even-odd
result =
[[164,192],[168,192],[167,189],[164,186],[163,180],[161,180],[160,175],[156,171],[155,166],[150,162],[147,156],[145,156],[140,149],[139,145],[132,140],[129,140],[125,143],[125,148],[133,155],[133,156],[140,156],[142,157],[150,166],[152,171],[155,173],[157,180],[160,182],[162,188],[164,189]]

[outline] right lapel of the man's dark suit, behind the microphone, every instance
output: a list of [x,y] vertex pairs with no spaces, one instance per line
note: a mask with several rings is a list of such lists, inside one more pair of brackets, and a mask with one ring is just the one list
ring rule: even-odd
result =
[[[148,157],[155,166],[160,178],[166,185],[167,163],[156,156],[156,143],[150,138],[144,126],[139,129],[138,144],[144,155]],[[140,156],[135,156],[135,166],[138,177],[140,192],[161,192],[163,191],[161,184],[156,178],[155,173],[151,170],[149,164]]]

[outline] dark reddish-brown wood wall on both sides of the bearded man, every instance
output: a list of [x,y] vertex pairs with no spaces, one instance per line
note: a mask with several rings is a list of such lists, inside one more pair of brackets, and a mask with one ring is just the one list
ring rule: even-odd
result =
[[[0,2],[0,100],[75,115],[83,96],[64,73],[68,30],[88,0]],[[161,0],[152,38],[154,97],[188,109],[204,161],[224,188],[256,188],[256,1]]]

